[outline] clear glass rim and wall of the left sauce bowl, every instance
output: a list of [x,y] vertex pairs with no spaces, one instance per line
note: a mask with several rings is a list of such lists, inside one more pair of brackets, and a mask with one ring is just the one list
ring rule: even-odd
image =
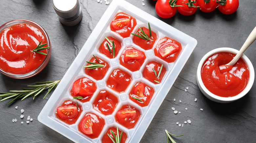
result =
[[40,26],[39,24],[37,24],[37,23],[35,23],[31,20],[27,20],[27,19],[11,20],[11,21],[9,21],[9,22],[0,26],[0,32],[5,28],[10,27],[11,25],[22,24],[22,23],[31,24],[31,25],[35,26],[36,28],[38,28],[45,35],[46,40],[47,40],[47,46],[50,47],[50,48],[49,48],[49,50],[47,50],[47,56],[45,56],[43,62],[36,69],[34,69],[33,71],[30,71],[30,72],[24,73],[24,74],[13,74],[13,73],[10,73],[10,72],[3,71],[0,68],[1,73],[3,73],[4,75],[6,75],[8,77],[16,78],[16,79],[30,78],[30,77],[38,74],[39,72],[41,72],[46,67],[46,65],[48,64],[48,62],[50,60],[50,57],[51,57],[51,53],[52,53],[51,42],[50,42],[49,36],[47,35],[46,31],[44,30],[44,28],[42,26]]

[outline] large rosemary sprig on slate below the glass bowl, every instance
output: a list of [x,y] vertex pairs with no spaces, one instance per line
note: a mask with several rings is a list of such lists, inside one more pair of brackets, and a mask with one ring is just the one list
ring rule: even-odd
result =
[[[46,93],[46,95],[47,95],[53,89],[53,87],[57,87],[57,83],[59,83],[59,82],[60,82],[60,80],[48,81],[48,82],[38,82],[32,86],[28,86],[28,87],[34,87],[34,88],[22,88],[22,90],[10,90],[10,92],[8,92],[8,93],[0,92],[1,93],[0,102],[4,101],[6,99],[9,99],[9,98],[14,98],[9,102],[9,103],[11,103],[12,101],[21,99],[21,98],[22,98],[21,100],[24,100],[25,98],[27,98],[29,96],[32,96],[33,99],[35,99],[35,97],[39,93],[41,93],[44,89],[49,88],[48,92]],[[44,96],[44,98],[46,97],[46,95]]]

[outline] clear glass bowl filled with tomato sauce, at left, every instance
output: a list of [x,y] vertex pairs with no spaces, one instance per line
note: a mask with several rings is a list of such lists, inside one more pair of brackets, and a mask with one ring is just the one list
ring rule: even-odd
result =
[[[38,44],[50,47],[40,52],[32,52]],[[41,45],[40,44],[40,45]],[[0,26],[0,72],[4,75],[25,79],[42,71],[51,57],[51,42],[46,31],[39,24],[17,19]]]

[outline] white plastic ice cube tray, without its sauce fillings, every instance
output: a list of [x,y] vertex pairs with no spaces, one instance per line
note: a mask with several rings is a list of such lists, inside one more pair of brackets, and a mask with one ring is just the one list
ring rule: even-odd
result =
[[[125,12],[126,14],[133,16],[137,20],[137,25],[135,26],[132,33],[135,33],[136,30],[139,28],[139,26],[148,27],[148,22],[150,23],[151,30],[157,33],[158,35],[158,39],[156,40],[152,49],[144,50],[139,46],[135,45],[132,40],[133,38],[132,35],[128,38],[122,38],[117,33],[110,30],[110,23],[118,12]],[[104,36],[112,36],[117,40],[121,41],[122,48],[120,49],[116,58],[110,59],[98,52],[98,47],[101,44],[101,42],[104,40]],[[176,59],[176,61],[173,63],[167,63],[154,55],[153,49],[155,45],[158,43],[161,37],[165,37],[165,36],[170,37],[174,40],[177,40],[182,45],[182,51],[178,56],[178,58]],[[160,107],[162,101],[164,100],[168,91],[170,90],[173,83],[175,82],[181,69],[183,68],[187,59],[189,58],[192,51],[194,50],[196,44],[197,44],[197,40],[195,40],[194,38],[160,21],[159,19],[131,5],[130,3],[124,0],[113,0],[109,5],[109,7],[107,8],[107,10],[105,11],[105,13],[103,14],[103,16],[101,17],[101,19],[99,20],[96,27],[94,28],[92,34],[90,35],[88,40],[85,42],[81,51],[75,58],[74,62],[72,63],[72,65],[70,66],[66,74],[63,76],[58,87],[55,89],[50,99],[45,104],[44,108],[42,109],[42,111],[38,116],[38,120],[43,124],[52,128],[53,130],[71,139],[74,142],[101,143],[101,139],[105,134],[105,132],[110,127],[113,127],[113,126],[118,127],[118,129],[122,130],[127,134],[126,143],[139,142],[143,134],[145,133],[147,127],[149,126],[151,120],[153,119],[154,115],[156,114],[158,108]],[[128,46],[133,46],[143,51],[146,55],[145,62],[143,63],[139,71],[135,71],[135,72],[129,71],[128,69],[126,69],[125,67],[119,64],[118,59],[121,56],[124,49]],[[105,77],[102,80],[97,81],[92,77],[86,75],[84,72],[83,66],[87,64],[86,61],[89,61],[90,58],[93,57],[93,55],[102,58],[103,60],[107,61],[110,65],[109,70],[107,71]],[[163,64],[163,66],[166,68],[166,73],[160,84],[155,85],[154,83],[151,83],[150,81],[143,78],[142,76],[142,71],[145,65],[149,61],[157,61],[160,64]],[[109,77],[111,72],[117,68],[128,72],[132,77],[131,84],[123,93],[118,93],[106,86],[107,78]],[[89,102],[82,103],[78,101],[78,104],[82,106],[83,111],[80,117],[77,119],[76,123],[69,125],[57,119],[55,116],[55,112],[56,112],[56,108],[60,106],[65,100],[71,100],[76,103],[77,100],[73,100],[73,97],[70,95],[70,91],[72,89],[72,85],[75,82],[75,80],[81,77],[87,77],[92,81],[94,81],[97,85],[97,89]],[[155,90],[155,93],[149,105],[146,107],[140,107],[138,104],[134,103],[129,99],[130,90],[132,89],[134,84],[139,81],[142,81],[145,84],[153,87],[153,89]],[[115,111],[111,115],[107,115],[107,116],[99,113],[93,108],[93,102],[94,102],[94,99],[96,98],[96,95],[99,93],[100,90],[104,90],[104,89],[113,93],[118,98],[118,104],[115,108]],[[118,124],[115,121],[115,115],[117,113],[117,110],[124,104],[129,104],[137,108],[141,113],[141,116],[137,124],[132,129],[127,129],[126,127]],[[93,112],[105,120],[105,126],[103,127],[100,135],[95,139],[91,139],[78,131],[77,126],[80,120],[88,112]]]

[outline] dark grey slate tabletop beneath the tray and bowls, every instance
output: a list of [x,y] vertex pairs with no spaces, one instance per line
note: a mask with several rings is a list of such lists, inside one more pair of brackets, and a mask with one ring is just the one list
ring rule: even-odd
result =
[[[245,97],[236,102],[215,103],[204,97],[199,90],[196,70],[203,55],[212,49],[240,49],[256,26],[256,2],[240,0],[238,10],[231,15],[223,15],[218,10],[203,13],[198,9],[192,16],[177,13],[173,18],[161,19],[155,12],[155,1],[145,0],[145,6],[142,6],[142,0],[127,1],[198,41],[197,47],[140,142],[166,142],[165,129],[176,135],[184,134],[181,137],[173,137],[176,142],[255,142],[255,84]],[[51,0],[0,0],[0,3],[0,25],[14,19],[32,20],[46,30],[52,43],[50,62],[38,75],[17,80],[0,74],[2,92],[20,89],[39,81],[61,79],[108,8],[108,5],[97,3],[96,0],[80,0],[83,19],[80,24],[67,27],[59,22]],[[256,42],[245,52],[254,66],[255,46]],[[184,91],[185,87],[189,87],[188,92]],[[0,142],[72,142],[37,120],[50,95],[45,100],[41,95],[35,100],[26,99],[10,105],[6,105],[7,101],[1,102]],[[174,98],[176,102],[173,101]],[[197,102],[194,101],[195,98]],[[15,106],[19,108],[16,110]],[[175,107],[181,114],[175,115],[171,107]],[[20,119],[22,108],[25,110],[24,119]],[[200,108],[203,108],[203,111]],[[29,124],[20,124],[21,121],[26,121],[28,115],[33,121]],[[18,121],[13,123],[12,119],[15,118]],[[188,119],[191,120],[191,124],[184,124],[183,122]],[[184,126],[179,127],[176,122],[183,123]]]

